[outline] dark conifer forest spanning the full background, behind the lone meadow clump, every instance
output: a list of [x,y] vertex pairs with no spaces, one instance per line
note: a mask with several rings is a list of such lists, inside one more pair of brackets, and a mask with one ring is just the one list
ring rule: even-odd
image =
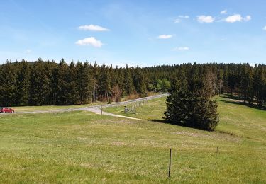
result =
[[167,92],[183,76],[199,78],[212,93],[229,93],[243,103],[266,107],[266,65],[174,64],[153,67],[113,67],[61,59],[6,61],[0,65],[0,106],[74,105],[96,100],[119,101],[125,96]]

